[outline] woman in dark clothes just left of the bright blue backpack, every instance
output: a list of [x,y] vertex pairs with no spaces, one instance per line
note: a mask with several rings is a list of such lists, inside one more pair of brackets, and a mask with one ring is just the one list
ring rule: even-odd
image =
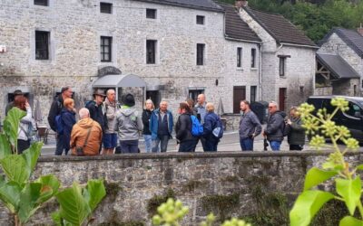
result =
[[191,135],[191,108],[188,103],[179,104],[178,113],[181,114],[175,125],[176,138],[179,142],[179,152],[193,152],[195,137]]

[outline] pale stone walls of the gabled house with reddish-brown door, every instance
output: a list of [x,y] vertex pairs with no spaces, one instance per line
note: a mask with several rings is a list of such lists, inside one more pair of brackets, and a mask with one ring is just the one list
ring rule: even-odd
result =
[[[286,89],[285,110],[306,101],[313,94],[316,49],[289,43],[278,44],[250,14],[240,9],[240,18],[259,35],[261,45],[261,99],[279,103],[280,89]],[[287,56],[285,76],[280,76],[280,58]]]

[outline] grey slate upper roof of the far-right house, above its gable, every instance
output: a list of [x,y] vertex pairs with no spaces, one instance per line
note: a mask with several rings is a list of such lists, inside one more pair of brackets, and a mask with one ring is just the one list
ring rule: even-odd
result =
[[324,42],[327,42],[333,33],[337,33],[343,42],[346,42],[359,57],[363,58],[363,36],[354,30],[335,27],[324,36],[324,38],[319,42],[319,45],[321,46]]

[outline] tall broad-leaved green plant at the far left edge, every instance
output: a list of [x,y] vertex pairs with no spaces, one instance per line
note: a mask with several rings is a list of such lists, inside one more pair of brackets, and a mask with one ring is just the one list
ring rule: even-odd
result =
[[15,225],[22,225],[44,202],[58,192],[60,183],[52,175],[44,175],[34,182],[33,174],[43,144],[34,143],[21,155],[17,154],[17,133],[20,119],[25,112],[12,108],[4,121],[4,131],[0,134],[0,165],[5,174],[0,176],[0,200],[14,214]]

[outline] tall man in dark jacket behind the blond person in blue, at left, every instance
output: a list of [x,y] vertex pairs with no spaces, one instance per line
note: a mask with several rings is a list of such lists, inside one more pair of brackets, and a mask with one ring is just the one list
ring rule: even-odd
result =
[[[71,87],[64,87],[61,89],[61,94],[58,95],[52,102],[52,105],[51,105],[51,108],[49,109],[49,114],[48,114],[48,123],[49,123],[49,127],[51,127],[54,132],[57,132],[55,117],[61,114],[63,104],[64,104],[64,99],[72,99],[73,93],[74,92],[72,91]],[[63,143],[60,140],[60,136],[57,134],[55,154],[62,153],[63,149],[64,149]]]

